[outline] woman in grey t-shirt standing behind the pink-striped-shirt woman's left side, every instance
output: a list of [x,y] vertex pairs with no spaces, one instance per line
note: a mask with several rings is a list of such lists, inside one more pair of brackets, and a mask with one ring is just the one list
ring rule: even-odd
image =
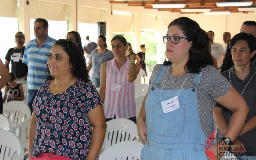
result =
[[90,53],[90,60],[88,64],[88,71],[93,69],[92,72],[92,84],[97,88],[100,87],[100,67],[103,62],[111,60],[114,55],[113,52],[108,50],[106,44],[106,37],[104,35],[99,35],[98,37],[98,49],[93,50]]

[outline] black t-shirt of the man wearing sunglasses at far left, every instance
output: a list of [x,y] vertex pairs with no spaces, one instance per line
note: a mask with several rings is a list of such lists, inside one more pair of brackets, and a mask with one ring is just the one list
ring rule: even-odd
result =
[[25,47],[21,49],[10,48],[5,56],[7,61],[11,61],[11,72],[16,75],[17,78],[22,78],[28,73],[27,64],[22,63]]

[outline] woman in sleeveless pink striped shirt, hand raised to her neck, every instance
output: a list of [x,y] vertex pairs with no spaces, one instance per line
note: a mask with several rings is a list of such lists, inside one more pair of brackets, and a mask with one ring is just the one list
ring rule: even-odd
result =
[[131,119],[136,123],[134,80],[139,73],[136,56],[125,57],[126,39],[115,36],[112,41],[114,59],[104,62],[100,70],[100,98],[104,103],[106,121],[115,118]]

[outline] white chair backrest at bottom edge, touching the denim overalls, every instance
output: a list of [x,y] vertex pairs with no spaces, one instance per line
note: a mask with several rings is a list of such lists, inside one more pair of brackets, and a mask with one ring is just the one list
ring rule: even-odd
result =
[[117,143],[106,149],[99,160],[140,160],[143,144],[138,141]]

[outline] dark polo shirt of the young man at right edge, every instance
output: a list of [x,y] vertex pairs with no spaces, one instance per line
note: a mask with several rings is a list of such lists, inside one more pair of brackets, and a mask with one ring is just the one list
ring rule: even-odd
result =
[[[244,81],[242,81],[235,75],[234,65],[229,70],[221,73],[227,78],[229,82],[231,81],[232,86],[234,86],[234,88],[240,94],[242,94],[242,92],[244,91],[242,96],[245,98],[245,101],[250,109],[245,123],[247,123],[248,120],[256,115],[256,69],[252,66],[252,64],[250,64],[250,67],[250,73],[244,79]],[[216,104],[216,106],[223,107],[220,104]],[[223,107],[222,114],[223,117],[226,119],[227,123],[229,124],[233,112]],[[244,144],[247,152],[250,152],[251,155],[253,154],[254,156],[256,156],[256,129],[253,129],[239,136],[238,140]],[[248,147],[250,147],[250,149]]]

